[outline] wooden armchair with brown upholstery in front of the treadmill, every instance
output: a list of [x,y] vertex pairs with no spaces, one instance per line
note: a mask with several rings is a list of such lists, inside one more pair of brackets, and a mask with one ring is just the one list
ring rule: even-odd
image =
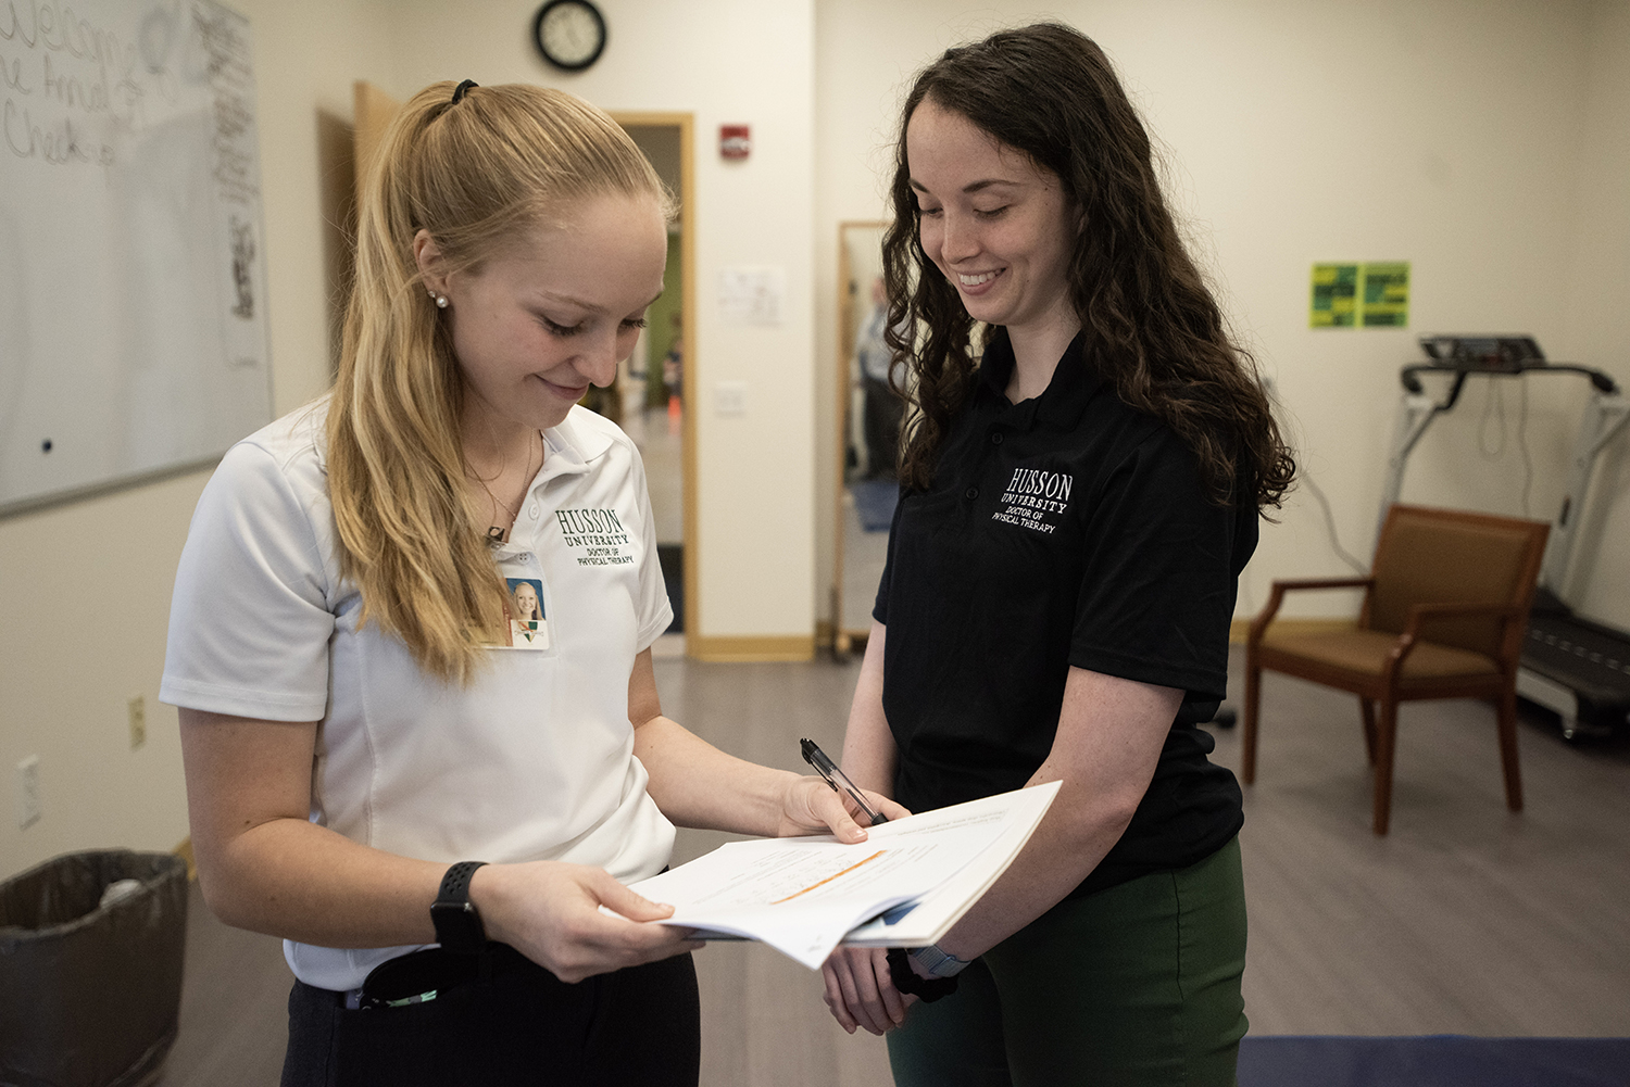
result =
[[[1547,531],[1540,521],[1394,505],[1369,577],[1275,582],[1245,642],[1245,784],[1257,777],[1262,670],[1271,668],[1358,694],[1376,768],[1376,834],[1387,833],[1399,702],[1407,699],[1493,699],[1506,807],[1521,812],[1518,658]],[[1275,631],[1284,593],[1309,588],[1364,588],[1358,626]]]

